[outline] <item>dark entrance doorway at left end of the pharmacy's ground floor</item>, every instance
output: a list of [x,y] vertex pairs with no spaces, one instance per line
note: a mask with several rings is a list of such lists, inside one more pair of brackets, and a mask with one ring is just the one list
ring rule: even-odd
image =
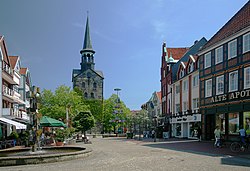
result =
[[205,116],[205,139],[214,139],[215,115]]

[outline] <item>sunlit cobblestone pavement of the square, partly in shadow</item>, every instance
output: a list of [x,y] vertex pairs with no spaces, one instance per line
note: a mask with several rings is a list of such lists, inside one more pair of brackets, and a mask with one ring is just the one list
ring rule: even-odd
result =
[[[168,141],[151,142],[127,140],[125,138],[91,139],[92,144],[77,144],[93,149],[90,156],[82,159],[0,167],[3,171],[150,171],[150,170],[250,170],[242,166],[249,158],[238,158],[214,151],[197,151],[199,142]],[[205,143],[205,142],[201,142]],[[200,143],[200,144],[201,144]],[[179,146],[179,148],[178,148]],[[186,148],[184,148],[186,146]],[[205,147],[204,147],[205,148]],[[205,148],[206,149],[206,148]],[[210,149],[210,147],[209,147]],[[211,148],[212,149],[212,148]],[[218,151],[219,149],[214,149]]]

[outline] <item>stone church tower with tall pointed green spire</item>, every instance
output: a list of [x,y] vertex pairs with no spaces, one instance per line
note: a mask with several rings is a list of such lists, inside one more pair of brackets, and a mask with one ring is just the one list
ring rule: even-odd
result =
[[94,54],[87,16],[83,48],[81,54],[81,69],[73,69],[73,88],[77,87],[83,92],[84,99],[103,100],[103,73],[95,70]]

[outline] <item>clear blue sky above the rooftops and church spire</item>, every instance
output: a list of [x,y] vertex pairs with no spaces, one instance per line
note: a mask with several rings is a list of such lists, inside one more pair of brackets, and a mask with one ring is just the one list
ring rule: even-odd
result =
[[121,88],[132,109],[160,91],[161,46],[189,47],[210,39],[247,0],[5,0],[0,35],[19,55],[32,83],[54,91],[72,87],[89,11],[95,69],[105,77],[104,97]]

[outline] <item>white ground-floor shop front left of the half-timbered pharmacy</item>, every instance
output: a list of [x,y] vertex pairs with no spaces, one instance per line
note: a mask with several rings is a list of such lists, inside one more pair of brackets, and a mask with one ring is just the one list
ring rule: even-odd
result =
[[197,139],[201,126],[201,114],[189,114],[170,119],[172,137]]

